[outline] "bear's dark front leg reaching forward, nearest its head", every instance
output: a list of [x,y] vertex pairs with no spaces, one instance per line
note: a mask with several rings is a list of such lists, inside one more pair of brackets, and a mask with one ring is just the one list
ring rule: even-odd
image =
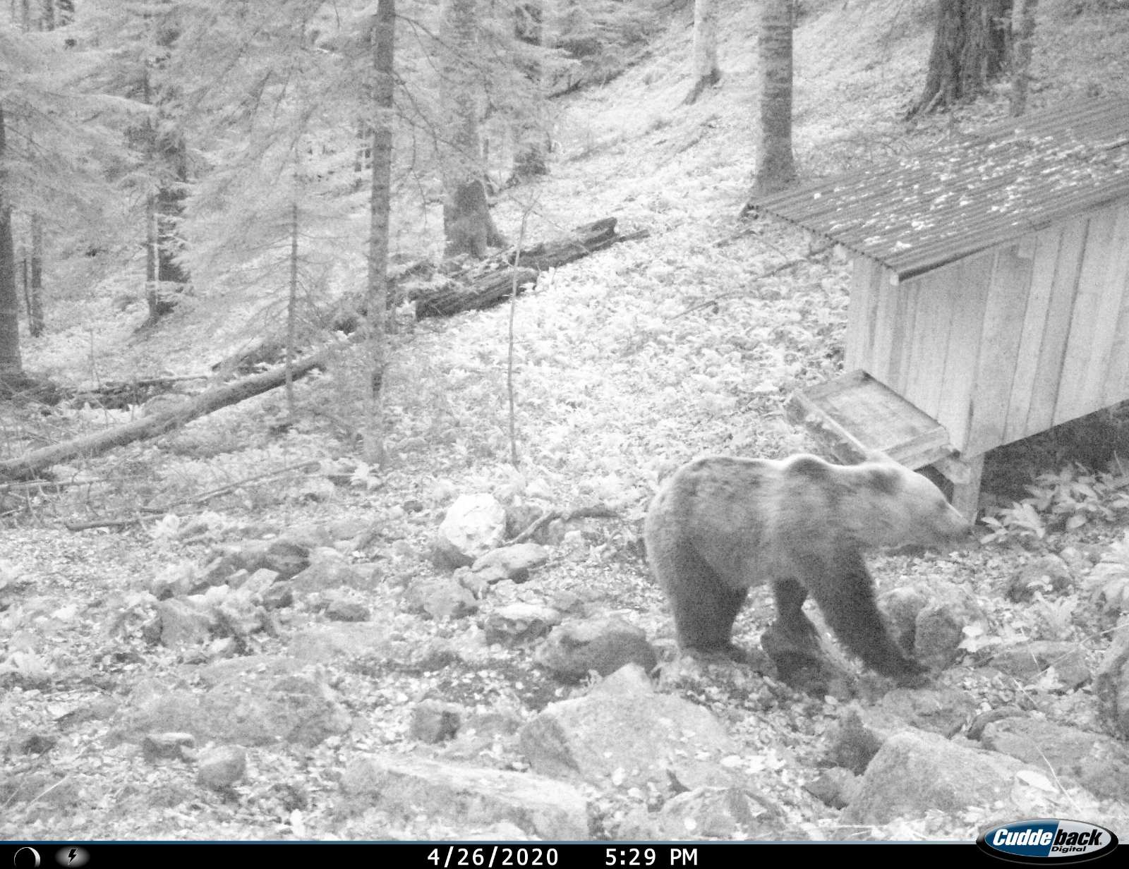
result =
[[926,672],[890,635],[861,558],[843,559],[832,573],[813,578],[808,589],[839,641],[870,669],[883,676]]

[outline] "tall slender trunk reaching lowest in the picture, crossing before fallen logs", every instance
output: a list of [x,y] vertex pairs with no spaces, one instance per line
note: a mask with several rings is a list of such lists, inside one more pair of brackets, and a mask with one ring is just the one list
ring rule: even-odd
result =
[[395,91],[396,3],[379,0],[373,21],[373,188],[369,196],[366,326],[369,360],[365,401],[365,458],[384,464],[384,371],[387,366],[388,211]]

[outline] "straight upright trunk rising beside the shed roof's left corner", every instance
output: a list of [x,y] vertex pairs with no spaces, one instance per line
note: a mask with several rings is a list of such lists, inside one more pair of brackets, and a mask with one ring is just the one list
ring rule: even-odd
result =
[[791,156],[791,0],[761,0],[761,148],[753,195],[796,179]]

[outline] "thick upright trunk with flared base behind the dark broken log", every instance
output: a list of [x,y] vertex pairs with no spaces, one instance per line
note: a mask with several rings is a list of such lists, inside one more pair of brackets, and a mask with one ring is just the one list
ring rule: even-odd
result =
[[439,24],[439,111],[443,116],[440,157],[446,201],[443,231],[446,256],[481,258],[487,247],[506,242],[487,207],[479,120],[482,88],[473,68],[479,33],[478,0],[444,0]]

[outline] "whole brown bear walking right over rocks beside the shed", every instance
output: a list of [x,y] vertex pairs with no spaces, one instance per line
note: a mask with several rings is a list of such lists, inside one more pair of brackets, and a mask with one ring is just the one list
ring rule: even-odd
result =
[[728,649],[750,587],[771,582],[773,630],[790,643],[819,649],[802,609],[811,594],[864,664],[910,676],[925,668],[887,632],[861,552],[943,546],[969,530],[937,486],[885,456],[859,465],[808,455],[780,462],[706,456],[664,483],[645,536],[682,648]]

